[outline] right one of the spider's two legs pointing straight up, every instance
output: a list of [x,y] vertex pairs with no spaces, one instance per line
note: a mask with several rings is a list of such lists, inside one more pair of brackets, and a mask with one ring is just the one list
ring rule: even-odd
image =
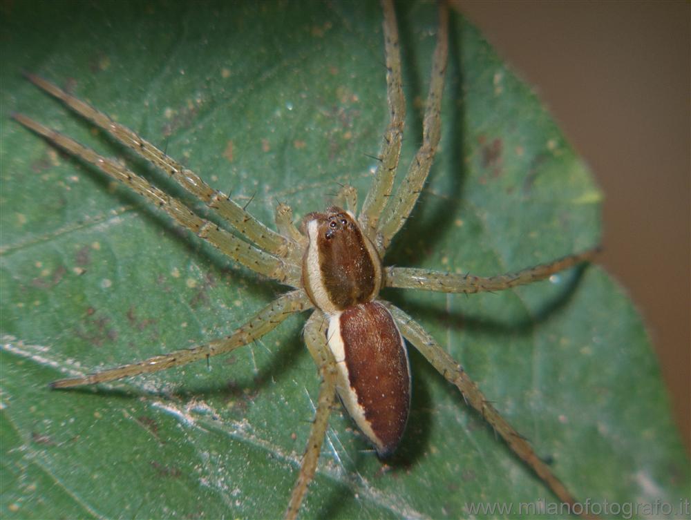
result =
[[379,240],[383,249],[388,247],[393,236],[408,219],[410,211],[417,202],[422,186],[432,166],[439,137],[442,135],[442,94],[446,77],[446,58],[448,55],[448,6],[439,3],[439,30],[437,46],[434,51],[430,90],[422,128],[422,146],[415,154],[408,173],[395,195],[393,205],[386,207],[386,214],[379,222]]

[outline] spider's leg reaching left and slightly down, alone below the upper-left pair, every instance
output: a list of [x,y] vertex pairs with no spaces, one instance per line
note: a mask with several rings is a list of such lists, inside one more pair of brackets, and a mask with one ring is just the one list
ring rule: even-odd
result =
[[153,358],[140,361],[139,363],[131,363],[130,365],[123,365],[122,367],[95,372],[83,377],[59,379],[50,383],[50,386],[53,388],[68,388],[106,383],[124,377],[158,372],[159,370],[172,367],[182,367],[182,365],[187,365],[187,363],[191,363],[192,361],[218,356],[218,354],[225,354],[238,347],[247,345],[247,343],[252,343],[254,340],[258,340],[267,334],[267,332],[275,329],[278,324],[283,322],[283,320],[291,314],[310,309],[310,307],[312,307],[312,304],[310,300],[307,300],[304,291],[291,291],[290,293],[285,293],[283,296],[276,298],[276,300],[272,301],[269,305],[252,316],[245,325],[236,329],[230,336],[220,340],[214,340],[206,345],[199,345],[191,349],[181,349],[170,352],[169,354],[153,356]]

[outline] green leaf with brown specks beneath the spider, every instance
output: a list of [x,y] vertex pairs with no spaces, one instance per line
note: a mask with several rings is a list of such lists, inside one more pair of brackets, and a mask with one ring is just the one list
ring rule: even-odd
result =
[[[406,166],[420,139],[436,18],[426,3],[398,16]],[[23,80],[29,70],[241,204],[252,200],[263,221],[277,201],[299,219],[339,183],[361,200],[368,189],[386,126],[379,6],[25,1],[3,4],[0,33],[3,518],[280,516],[319,384],[304,317],[209,367],[48,389],[74,372],[229,334],[283,288],[8,116],[26,113],[122,157],[207,213]],[[387,263],[490,275],[545,262],[598,242],[600,200],[536,95],[454,17],[442,146]],[[598,267],[497,294],[384,297],[464,364],[582,501],[677,507],[688,497],[688,459],[643,323]],[[410,356],[413,408],[399,452],[382,463],[335,412],[302,517],[514,517],[473,515],[468,504],[555,501]]]

